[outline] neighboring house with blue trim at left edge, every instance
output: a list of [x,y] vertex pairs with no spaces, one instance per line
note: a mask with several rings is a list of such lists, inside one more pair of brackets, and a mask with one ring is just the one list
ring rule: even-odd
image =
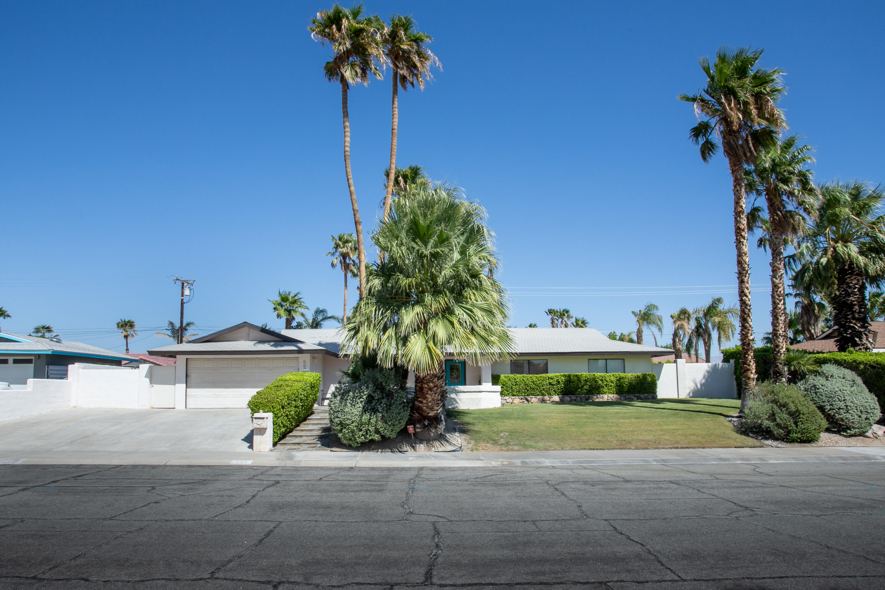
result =
[[59,338],[0,333],[0,382],[25,385],[28,379],[66,379],[76,362],[119,367],[132,359],[97,346]]

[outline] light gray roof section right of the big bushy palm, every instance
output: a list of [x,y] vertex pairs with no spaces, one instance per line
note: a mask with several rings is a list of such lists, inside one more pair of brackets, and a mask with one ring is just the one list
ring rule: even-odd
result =
[[531,354],[673,354],[669,348],[612,340],[593,328],[511,328],[516,353]]

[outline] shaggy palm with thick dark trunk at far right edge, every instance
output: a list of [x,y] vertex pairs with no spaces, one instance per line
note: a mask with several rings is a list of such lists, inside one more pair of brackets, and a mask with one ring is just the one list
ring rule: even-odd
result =
[[881,187],[866,182],[820,185],[820,205],[797,248],[795,281],[835,284],[830,300],[839,352],[873,349],[866,310],[866,286],[879,287],[885,278],[885,204]]

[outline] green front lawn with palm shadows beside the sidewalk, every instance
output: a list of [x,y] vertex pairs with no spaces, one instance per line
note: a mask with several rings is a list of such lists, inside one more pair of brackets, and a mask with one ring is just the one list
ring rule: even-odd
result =
[[762,446],[726,420],[740,400],[586,401],[446,410],[474,451]]

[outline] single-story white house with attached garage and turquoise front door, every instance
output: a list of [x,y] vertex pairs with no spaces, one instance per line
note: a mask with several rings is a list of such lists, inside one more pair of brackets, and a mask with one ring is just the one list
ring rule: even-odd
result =
[[[512,329],[516,353],[511,361],[482,365],[455,357],[445,361],[453,397],[471,405],[500,404],[492,374],[652,373],[652,359],[673,351],[611,340],[592,328]],[[322,376],[320,397],[327,399],[350,360],[341,350],[342,330],[280,330],[242,322],[181,345],[148,351],[175,357],[175,408],[242,408],[259,389],[291,371]],[[660,365],[657,365],[660,367]],[[659,373],[659,370],[657,371]],[[486,400],[488,398],[488,400]]]

